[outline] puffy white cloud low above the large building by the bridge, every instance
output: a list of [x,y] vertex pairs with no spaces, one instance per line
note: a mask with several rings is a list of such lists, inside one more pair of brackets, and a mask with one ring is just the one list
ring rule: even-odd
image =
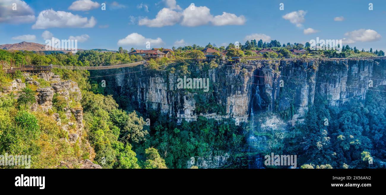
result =
[[[150,42],[151,45],[159,46],[162,45],[164,42],[161,38],[151,39],[151,38],[145,38],[144,36],[138,34],[138,33],[131,33],[130,35],[127,35],[127,37],[122,38],[118,41],[118,45],[133,45],[133,46],[146,46],[146,42]],[[153,46],[151,46],[153,47]]]

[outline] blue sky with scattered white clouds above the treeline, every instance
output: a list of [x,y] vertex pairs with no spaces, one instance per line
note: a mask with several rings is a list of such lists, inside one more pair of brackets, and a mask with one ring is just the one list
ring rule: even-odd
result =
[[319,37],[386,50],[384,0],[0,0],[0,5],[0,44],[72,36],[81,49],[117,50],[145,49],[146,41],[151,47],[208,42],[219,47],[251,38],[283,44]]

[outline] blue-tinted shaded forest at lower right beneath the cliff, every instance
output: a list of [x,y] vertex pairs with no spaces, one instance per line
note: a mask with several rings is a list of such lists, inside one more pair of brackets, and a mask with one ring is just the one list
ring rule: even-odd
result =
[[[384,87],[380,90],[385,90]],[[347,107],[330,107],[318,96],[305,119],[284,138],[286,153],[301,156],[304,164],[333,168],[370,168],[369,158],[384,159],[386,104],[384,92],[369,91],[366,100],[352,99]],[[325,118],[332,120],[325,123]],[[299,144],[300,143],[300,144]]]

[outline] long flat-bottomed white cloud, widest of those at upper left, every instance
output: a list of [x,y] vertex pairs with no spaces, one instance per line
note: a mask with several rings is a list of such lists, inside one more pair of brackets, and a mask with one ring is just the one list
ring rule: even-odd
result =
[[71,12],[44,10],[39,13],[33,29],[45,28],[92,28],[97,24],[97,20],[91,16],[87,17],[73,15]]

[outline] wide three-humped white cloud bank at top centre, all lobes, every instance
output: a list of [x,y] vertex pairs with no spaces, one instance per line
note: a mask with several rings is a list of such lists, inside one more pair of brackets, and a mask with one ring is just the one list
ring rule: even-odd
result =
[[222,15],[213,16],[210,13],[210,9],[205,6],[196,7],[192,4],[182,12],[175,11],[174,9],[163,8],[157,13],[156,18],[142,18],[138,24],[148,27],[164,27],[180,23],[183,26],[196,27],[207,24],[215,26],[243,25],[246,22],[243,15],[237,16],[233,13],[223,12]]

